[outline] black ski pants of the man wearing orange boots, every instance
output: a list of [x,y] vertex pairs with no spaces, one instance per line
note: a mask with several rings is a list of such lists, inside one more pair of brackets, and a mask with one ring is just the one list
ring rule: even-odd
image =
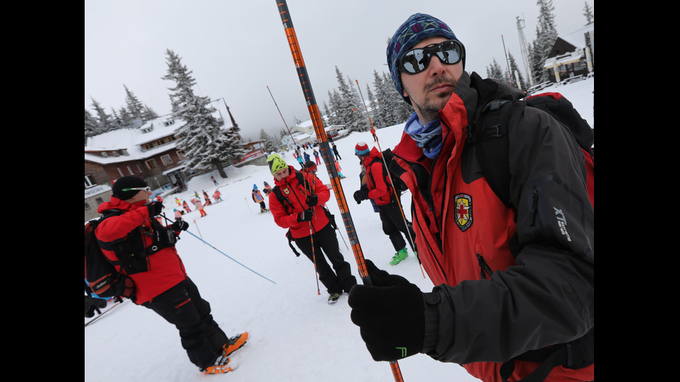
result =
[[182,347],[194,365],[201,369],[212,366],[222,355],[222,346],[228,338],[213,320],[210,303],[201,298],[188,277],[142,306],[177,327]]

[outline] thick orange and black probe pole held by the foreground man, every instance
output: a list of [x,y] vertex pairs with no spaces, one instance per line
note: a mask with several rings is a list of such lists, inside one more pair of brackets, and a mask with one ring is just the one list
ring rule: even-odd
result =
[[[318,105],[316,105],[316,99],[314,98],[314,92],[312,91],[312,84],[309,83],[307,68],[305,67],[303,55],[300,52],[298,37],[296,36],[295,29],[293,28],[293,21],[291,20],[289,14],[288,4],[286,3],[286,0],[276,0],[276,5],[278,6],[279,15],[281,16],[283,28],[286,32],[288,44],[293,55],[293,62],[298,71],[298,79],[300,80],[300,85],[302,86],[303,94],[305,96],[305,100],[307,101],[307,110],[309,110],[309,115],[312,116],[314,132],[316,132],[316,138],[318,139],[319,146],[321,147],[321,157],[323,158],[323,163],[326,165],[326,171],[328,171],[328,175],[330,177],[330,184],[333,187],[335,199],[338,202],[343,223],[345,223],[347,237],[350,241],[350,245],[352,245],[352,252],[354,252],[357,266],[359,266],[359,275],[362,277],[364,285],[371,285],[371,276],[368,275],[368,270],[366,269],[364,252],[362,252],[362,247],[359,244],[357,231],[354,227],[354,223],[352,222],[352,216],[350,216],[350,209],[347,206],[345,193],[343,193],[342,186],[340,184],[340,177],[338,175],[337,168],[335,168],[333,164],[332,153],[330,146],[328,146],[328,137],[326,137],[326,132],[323,129],[323,121],[321,120],[321,113],[318,111]],[[404,379],[397,361],[390,361],[390,367],[392,369],[394,380],[396,382],[403,382]]]

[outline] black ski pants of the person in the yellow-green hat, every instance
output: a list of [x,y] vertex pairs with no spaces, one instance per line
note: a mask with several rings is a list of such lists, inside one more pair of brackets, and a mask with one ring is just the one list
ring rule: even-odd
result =
[[[312,241],[314,241],[314,252],[312,252]],[[352,275],[350,264],[340,253],[338,236],[335,235],[335,230],[330,223],[318,230],[316,234],[296,238],[295,244],[312,263],[316,264],[318,280],[326,287],[329,294],[342,293],[343,290],[345,293],[350,293],[352,286],[357,284],[357,278]],[[328,257],[333,269],[330,268],[323,254]]]

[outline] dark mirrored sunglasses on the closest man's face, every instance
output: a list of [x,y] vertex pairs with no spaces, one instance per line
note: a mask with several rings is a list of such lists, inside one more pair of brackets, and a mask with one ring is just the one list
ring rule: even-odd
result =
[[430,64],[430,59],[432,59],[434,54],[443,64],[452,65],[460,62],[465,52],[463,51],[463,46],[455,40],[447,40],[439,44],[411,49],[399,59],[399,69],[402,73],[407,74],[420,73]]

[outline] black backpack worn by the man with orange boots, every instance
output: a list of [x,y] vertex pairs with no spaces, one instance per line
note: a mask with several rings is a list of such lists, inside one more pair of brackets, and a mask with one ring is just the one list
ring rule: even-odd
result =
[[99,297],[128,297],[132,298],[135,284],[130,277],[119,273],[114,263],[104,256],[94,236],[94,230],[105,218],[121,214],[112,210],[96,220],[85,224],[85,280],[92,293]]

